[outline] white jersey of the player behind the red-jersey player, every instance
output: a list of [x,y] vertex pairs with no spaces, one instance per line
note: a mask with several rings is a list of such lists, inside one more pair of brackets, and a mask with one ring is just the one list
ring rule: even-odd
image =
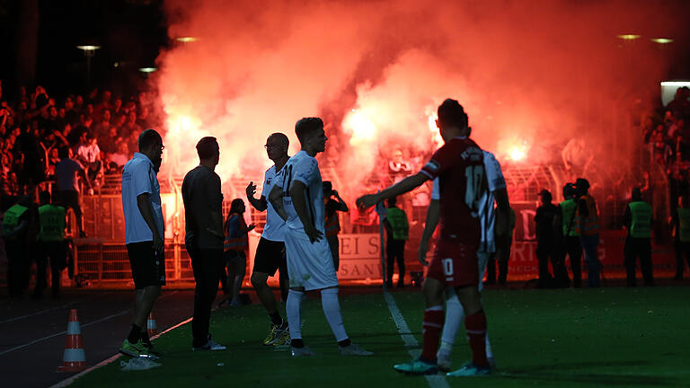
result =
[[[500,163],[496,160],[496,157],[489,151],[482,150],[482,153],[484,154],[484,171],[486,172],[489,190],[484,191],[479,201],[478,215],[482,225],[482,241],[477,251],[492,253],[496,251],[496,242],[493,238],[493,228],[496,221],[493,192],[505,189],[506,180],[503,178],[503,172],[500,171]],[[431,199],[438,200],[440,198],[438,190],[438,178],[436,178],[431,190]]]

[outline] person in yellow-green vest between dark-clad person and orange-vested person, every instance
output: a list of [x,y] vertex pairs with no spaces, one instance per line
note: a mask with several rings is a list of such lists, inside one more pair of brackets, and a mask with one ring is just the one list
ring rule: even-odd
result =
[[575,188],[572,183],[566,183],[563,186],[563,198],[564,200],[559,205],[563,227],[563,249],[571,259],[572,287],[579,288],[582,281],[582,244],[579,242],[579,223],[575,222],[578,203],[575,201]]

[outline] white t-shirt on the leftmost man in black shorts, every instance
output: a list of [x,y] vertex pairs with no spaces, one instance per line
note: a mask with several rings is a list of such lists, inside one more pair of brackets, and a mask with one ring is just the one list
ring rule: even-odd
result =
[[149,194],[149,202],[154,209],[155,225],[158,234],[164,236],[163,207],[161,207],[161,187],[154,163],[145,154],[135,153],[122,170],[122,210],[125,214],[125,243],[153,241],[154,234],[146,225],[137,206],[139,194]]

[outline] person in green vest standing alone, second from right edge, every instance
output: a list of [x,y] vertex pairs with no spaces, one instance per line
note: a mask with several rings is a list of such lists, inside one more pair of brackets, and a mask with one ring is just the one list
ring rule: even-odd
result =
[[640,268],[645,286],[654,286],[651,269],[651,206],[642,200],[641,190],[632,189],[631,202],[625,207],[624,265],[628,287],[635,287],[635,263],[640,258]]

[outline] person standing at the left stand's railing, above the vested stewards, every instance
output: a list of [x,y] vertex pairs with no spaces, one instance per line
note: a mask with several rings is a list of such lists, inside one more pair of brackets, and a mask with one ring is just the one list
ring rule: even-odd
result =
[[86,177],[82,163],[72,159],[72,149],[60,149],[60,162],[55,166],[57,181],[57,203],[63,207],[71,207],[75,212],[76,223],[79,225],[79,236],[85,237],[82,207],[79,206],[79,178],[84,180],[89,190],[93,190],[91,181]]

